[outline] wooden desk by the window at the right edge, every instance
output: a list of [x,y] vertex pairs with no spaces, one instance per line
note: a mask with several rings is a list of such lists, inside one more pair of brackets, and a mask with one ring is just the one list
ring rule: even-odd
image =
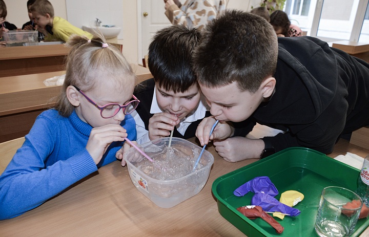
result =
[[332,47],[369,62],[369,43],[340,40],[332,42]]

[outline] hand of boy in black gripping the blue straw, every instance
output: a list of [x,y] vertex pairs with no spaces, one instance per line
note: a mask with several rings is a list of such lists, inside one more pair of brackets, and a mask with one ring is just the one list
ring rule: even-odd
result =
[[214,139],[226,139],[233,135],[234,128],[227,122],[219,121],[214,128],[212,135],[209,137],[210,131],[215,123],[216,119],[213,116],[202,119],[200,124],[196,128],[196,137],[199,139],[201,145],[208,144],[210,140]]

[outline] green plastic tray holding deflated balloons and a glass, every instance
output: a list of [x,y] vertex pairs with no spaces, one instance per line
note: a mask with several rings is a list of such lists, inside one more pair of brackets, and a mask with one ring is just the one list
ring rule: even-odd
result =
[[[258,236],[318,236],[314,225],[318,212],[320,193],[324,187],[340,186],[351,190],[357,187],[360,170],[336,161],[313,149],[292,147],[284,149],[270,157],[232,171],[217,178],[212,191],[217,199],[218,210],[222,217],[249,237]],[[251,205],[253,192],[236,197],[233,191],[258,176],[268,176],[280,193],[297,190],[304,199],[294,208],[301,210],[297,217],[274,218],[283,227],[281,234],[275,232],[261,218],[250,220],[236,208]],[[369,218],[358,221],[352,236],[358,236],[369,226]]]

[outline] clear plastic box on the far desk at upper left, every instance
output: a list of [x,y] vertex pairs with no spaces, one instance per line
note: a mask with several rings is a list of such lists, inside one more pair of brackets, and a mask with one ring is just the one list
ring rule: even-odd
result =
[[8,31],[4,32],[3,36],[4,40],[7,41],[6,47],[38,45],[37,31]]

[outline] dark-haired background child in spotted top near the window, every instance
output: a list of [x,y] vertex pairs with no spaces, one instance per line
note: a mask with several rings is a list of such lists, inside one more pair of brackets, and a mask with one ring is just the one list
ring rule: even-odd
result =
[[276,10],[270,15],[272,24],[278,37],[299,37],[302,36],[301,29],[292,25],[288,15],[281,10]]

